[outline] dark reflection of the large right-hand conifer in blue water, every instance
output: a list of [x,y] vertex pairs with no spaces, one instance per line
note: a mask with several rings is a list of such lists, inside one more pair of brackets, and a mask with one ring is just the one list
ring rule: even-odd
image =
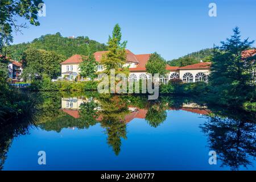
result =
[[201,129],[208,135],[210,148],[217,152],[222,167],[237,170],[251,165],[249,158],[255,158],[256,151],[254,123],[212,117]]

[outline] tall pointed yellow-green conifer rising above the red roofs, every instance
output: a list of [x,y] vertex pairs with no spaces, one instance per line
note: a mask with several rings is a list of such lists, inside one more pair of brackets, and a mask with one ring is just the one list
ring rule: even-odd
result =
[[127,41],[121,43],[121,38],[121,28],[118,24],[115,24],[112,37],[109,36],[109,51],[101,59],[101,63],[104,65],[107,73],[110,72],[110,69],[117,71],[126,62],[125,48]]

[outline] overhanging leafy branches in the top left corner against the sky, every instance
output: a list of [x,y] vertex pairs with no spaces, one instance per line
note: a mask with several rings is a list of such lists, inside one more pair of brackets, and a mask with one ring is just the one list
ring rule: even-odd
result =
[[39,26],[38,10],[39,3],[42,0],[1,0],[0,1],[0,52],[2,48],[13,42],[12,27],[15,31],[20,31],[20,28],[26,27],[26,23],[17,24],[16,17],[25,18],[35,26]]

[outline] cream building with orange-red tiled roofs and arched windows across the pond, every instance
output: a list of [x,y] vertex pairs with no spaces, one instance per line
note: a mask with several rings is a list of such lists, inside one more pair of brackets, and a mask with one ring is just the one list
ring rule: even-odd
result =
[[[100,63],[102,55],[108,51],[98,51],[94,53],[94,57],[98,63]],[[148,59],[150,59],[150,54],[134,55],[133,52],[126,49],[126,63],[123,67],[128,67],[130,71],[129,81],[137,81],[140,79],[150,78],[150,75],[146,73],[146,67]],[[82,62],[82,57],[80,55],[73,55],[69,59],[61,63],[61,77],[69,77],[74,79],[79,75],[79,64]],[[160,81],[166,82],[170,79],[180,78],[184,82],[195,82],[204,81],[206,76],[209,75],[210,63],[201,62],[197,64],[188,65],[186,67],[171,67],[166,65],[168,74],[165,78],[160,78]],[[98,72],[104,70],[102,65],[98,65]]]

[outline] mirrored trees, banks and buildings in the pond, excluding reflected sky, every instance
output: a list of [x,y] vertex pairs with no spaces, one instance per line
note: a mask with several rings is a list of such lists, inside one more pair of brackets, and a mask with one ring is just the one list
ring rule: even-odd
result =
[[[60,133],[65,128],[89,129],[97,123],[104,129],[106,143],[119,155],[122,140],[127,139],[127,123],[135,118],[144,119],[158,128],[167,121],[168,110],[184,110],[206,118],[200,125],[208,137],[209,150],[214,150],[222,166],[233,170],[247,167],[255,158],[255,113],[216,108],[191,98],[160,97],[148,101],[143,96],[118,96],[98,93],[40,93],[42,102],[36,113],[35,126]],[[0,128],[1,166],[6,159],[13,138],[28,134],[26,122],[14,122]],[[186,127],[186,126],[184,126]],[[190,150],[190,149],[189,149]]]

